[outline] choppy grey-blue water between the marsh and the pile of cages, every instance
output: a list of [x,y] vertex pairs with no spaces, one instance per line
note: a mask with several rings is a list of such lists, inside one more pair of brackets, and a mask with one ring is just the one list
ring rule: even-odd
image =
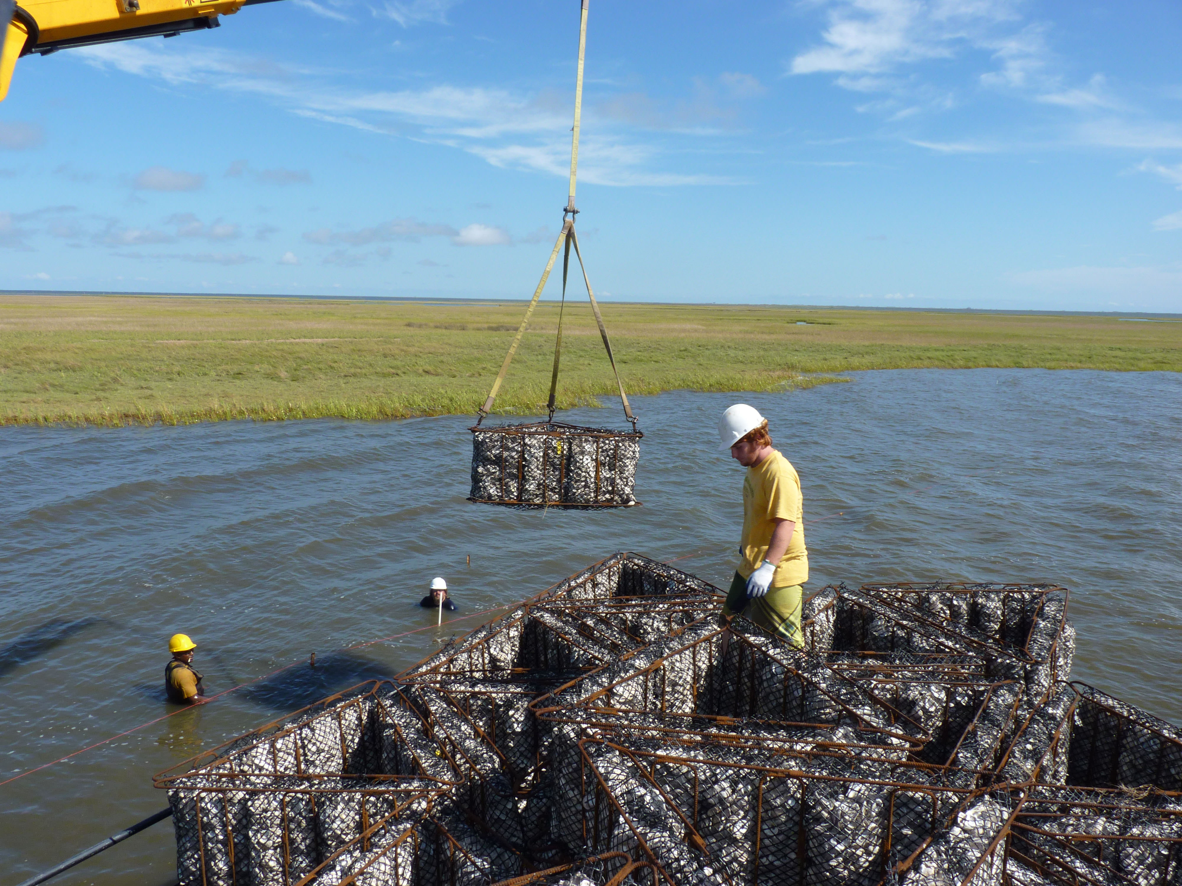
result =
[[[197,641],[212,692],[313,651],[319,665],[0,786],[0,879],[164,807],[152,773],[488,618],[435,630],[416,604],[436,574],[460,615],[622,549],[725,585],[742,469],[714,441],[740,399],[769,416],[800,473],[813,588],[1063,584],[1076,676],[1182,721],[1176,374],[892,371],[782,395],[638,398],[644,507],[593,514],[466,502],[465,417],[0,429],[0,781],[168,712],[176,631]],[[58,882],[162,886],[174,871],[164,823]]]

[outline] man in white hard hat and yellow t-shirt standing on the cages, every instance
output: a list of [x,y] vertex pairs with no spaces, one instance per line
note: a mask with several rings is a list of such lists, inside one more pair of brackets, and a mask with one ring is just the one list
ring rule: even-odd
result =
[[804,499],[795,468],[772,448],[767,419],[738,403],[719,422],[721,448],[747,469],[742,481],[742,560],[735,571],[722,617],[727,625],[742,612],[760,627],[797,647],[800,606],[808,581]]

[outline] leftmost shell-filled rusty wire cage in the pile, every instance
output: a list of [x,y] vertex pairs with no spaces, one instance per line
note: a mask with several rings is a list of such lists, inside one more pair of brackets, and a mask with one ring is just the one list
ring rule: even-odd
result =
[[182,886],[287,886],[349,864],[358,840],[394,851],[394,862],[401,834],[461,781],[395,686],[379,682],[155,777],[173,808]]

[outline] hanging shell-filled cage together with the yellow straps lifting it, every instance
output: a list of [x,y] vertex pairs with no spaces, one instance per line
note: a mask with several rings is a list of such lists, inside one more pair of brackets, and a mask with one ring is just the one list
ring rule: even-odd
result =
[[[616,369],[616,358],[611,352],[608,328],[599,313],[599,304],[591,291],[586,267],[583,265],[583,253],[579,250],[579,239],[574,234],[574,174],[578,165],[579,149],[579,108],[583,100],[583,54],[586,45],[586,4],[583,5],[579,28],[579,64],[574,87],[574,126],[571,138],[571,185],[563,210],[563,228],[550,253],[550,261],[541,274],[538,288],[533,292],[525,319],[518,328],[513,344],[505,356],[501,371],[493,383],[485,405],[478,410],[476,424],[469,430],[472,437],[472,494],[468,501],[481,504],[504,504],[511,508],[621,508],[639,504],[632,494],[636,482],[636,463],[641,457],[641,437],[636,430],[636,417],[628,403],[624,383]],[[599,326],[603,346],[608,351],[608,360],[616,374],[616,385],[624,405],[624,416],[632,424],[629,431],[615,431],[608,428],[579,428],[572,424],[554,422],[554,395],[558,390],[558,366],[563,353],[563,308],[558,312],[558,333],[554,339],[554,370],[550,379],[550,415],[545,422],[533,424],[502,425],[500,428],[481,428],[480,423],[493,409],[493,400],[505,380],[513,354],[517,353],[521,337],[530,325],[541,291],[558,260],[558,250],[563,249],[563,307],[566,305],[566,275],[570,269],[571,247],[579,260],[583,282],[586,284],[587,298]]]

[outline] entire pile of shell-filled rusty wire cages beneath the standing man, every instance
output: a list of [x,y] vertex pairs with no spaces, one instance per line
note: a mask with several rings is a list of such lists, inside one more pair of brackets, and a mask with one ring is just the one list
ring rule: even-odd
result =
[[1182,882],[1182,731],[1065,682],[1060,588],[722,600],[617,554],[162,773],[182,886]]

